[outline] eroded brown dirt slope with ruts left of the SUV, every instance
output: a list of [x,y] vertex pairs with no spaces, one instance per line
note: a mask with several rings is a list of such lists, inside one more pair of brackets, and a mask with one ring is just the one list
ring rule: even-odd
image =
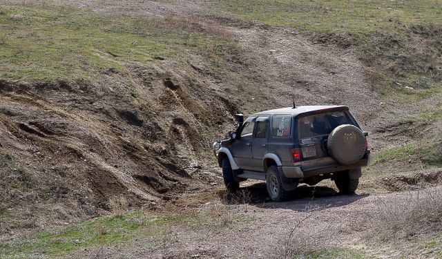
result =
[[[57,222],[98,215],[119,195],[139,206],[209,186],[208,135],[213,125],[231,124],[234,106],[198,75],[170,66],[133,66],[131,75],[104,75],[94,86],[1,81],[1,146],[49,195],[25,203],[56,202]],[[121,84],[122,76],[135,87]]]

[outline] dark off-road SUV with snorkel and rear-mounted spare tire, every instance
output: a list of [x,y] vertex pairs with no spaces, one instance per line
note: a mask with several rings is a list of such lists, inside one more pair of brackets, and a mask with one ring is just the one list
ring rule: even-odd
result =
[[301,182],[332,179],[340,193],[353,193],[369,163],[368,134],[347,106],[294,106],[236,119],[229,139],[213,143],[231,191],[243,180],[265,180],[271,200],[282,201]]

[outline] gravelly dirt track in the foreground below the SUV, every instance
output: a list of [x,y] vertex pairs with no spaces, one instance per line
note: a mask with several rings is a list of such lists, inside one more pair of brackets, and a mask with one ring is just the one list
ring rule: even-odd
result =
[[[262,184],[250,188],[253,188],[255,194],[265,192],[265,186]],[[431,191],[442,191],[442,189],[438,187]],[[233,217],[253,218],[253,220],[249,223],[233,223],[231,227],[215,230],[213,234],[181,226],[173,229],[173,235],[176,235],[173,244],[160,246],[157,249],[152,250],[143,246],[134,249],[121,244],[117,247],[104,247],[99,251],[93,249],[88,253],[75,253],[75,256],[87,257],[94,254],[106,258],[119,254],[126,258],[281,258],[285,242],[293,229],[294,239],[289,243],[291,248],[300,250],[307,247],[352,248],[354,244],[365,242],[367,235],[371,233],[370,225],[380,220],[380,214],[385,213],[385,206],[398,206],[397,204],[408,202],[410,198],[419,195],[418,191],[379,195],[370,193],[338,195],[334,189],[327,186],[315,190],[312,187],[301,186],[300,193],[304,193],[305,198],[289,202],[227,204],[224,213],[230,213]],[[217,204],[218,201],[213,201],[198,209],[210,210]],[[415,244],[416,247],[418,245]],[[361,247],[354,248],[361,249]],[[398,244],[398,247],[364,251],[366,256],[375,258],[407,256],[401,253],[401,244]],[[419,254],[413,256],[419,258]]]

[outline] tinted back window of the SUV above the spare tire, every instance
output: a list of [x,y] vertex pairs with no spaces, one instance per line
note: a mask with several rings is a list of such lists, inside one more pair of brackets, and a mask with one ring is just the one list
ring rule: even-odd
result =
[[342,124],[352,124],[347,114],[343,111],[319,113],[298,119],[299,137],[314,137],[328,135],[334,128]]

